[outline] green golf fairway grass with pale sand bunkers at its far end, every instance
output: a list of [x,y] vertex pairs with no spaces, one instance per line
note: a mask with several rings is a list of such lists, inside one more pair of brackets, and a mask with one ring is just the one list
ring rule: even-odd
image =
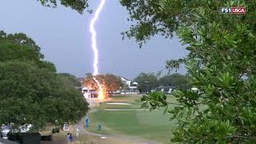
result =
[[[140,103],[134,102],[139,96],[115,96],[111,102],[129,102],[132,105],[106,105],[95,107],[97,111],[90,113],[90,127],[88,130],[98,134],[130,135],[146,138],[158,142],[170,142],[170,131],[174,129],[174,122],[169,121],[170,115],[163,115],[163,109],[106,111],[104,109],[134,109],[140,108]],[[171,98],[171,96],[168,96]],[[103,130],[96,130],[98,124]]]

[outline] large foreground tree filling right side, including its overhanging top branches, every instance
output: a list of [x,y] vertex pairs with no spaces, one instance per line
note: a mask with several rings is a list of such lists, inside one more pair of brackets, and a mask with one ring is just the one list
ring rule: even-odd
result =
[[[176,90],[178,105],[168,108],[166,95],[142,98],[143,106],[165,111],[178,122],[174,142],[254,143],[256,110],[256,19],[254,1],[126,1],[131,18],[138,21],[128,37],[143,42],[154,34],[175,32],[190,51],[186,58],[170,60],[167,67],[185,63],[191,86],[203,93]],[[219,7],[246,6],[246,14],[219,14]],[[146,23],[146,24],[145,24]]]

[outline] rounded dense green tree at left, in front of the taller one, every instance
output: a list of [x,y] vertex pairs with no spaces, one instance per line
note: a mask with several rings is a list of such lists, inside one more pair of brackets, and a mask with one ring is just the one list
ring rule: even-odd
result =
[[0,62],[0,69],[0,123],[38,129],[77,122],[88,110],[82,94],[49,70],[17,61]]

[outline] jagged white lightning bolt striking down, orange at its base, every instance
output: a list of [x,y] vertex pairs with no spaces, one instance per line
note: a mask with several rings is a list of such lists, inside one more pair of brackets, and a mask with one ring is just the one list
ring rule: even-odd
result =
[[[98,19],[98,15],[101,13],[103,6],[105,5],[106,0],[101,0],[95,14],[94,18],[91,19],[90,21],[90,33],[91,33],[91,41],[92,41],[92,49],[94,51],[94,76],[98,75],[98,48],[97,48],[97,41],[96,41],[96,30],[94,28],[95,22]],[[94,81],[98,85],[98,98],[99,99],[104,99],[104,90],[103,86],[100,82],[98,82],[98,79],[94,77]]]

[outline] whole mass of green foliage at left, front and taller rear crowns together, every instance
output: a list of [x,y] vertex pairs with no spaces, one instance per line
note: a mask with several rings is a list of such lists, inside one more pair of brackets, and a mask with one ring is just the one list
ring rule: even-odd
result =
[[54,64],[42,61],[32,39],[30,44],[14,39],[0,39],[0,123],[32,124],[39,129],[46,122],[62,126],[82,118],[88,103],[81,92],[56,74]]

